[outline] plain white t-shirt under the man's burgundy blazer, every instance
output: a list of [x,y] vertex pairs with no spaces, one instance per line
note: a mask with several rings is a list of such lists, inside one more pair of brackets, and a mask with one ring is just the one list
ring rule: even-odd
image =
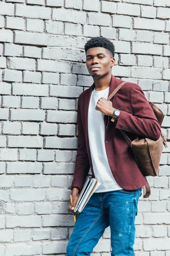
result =
[[92,91],[88,108],[88,138],[91,160],[95,177],[101,182],[96,192],[108,192],[122,189],[113,177],[105,148],[104,114],[96,110],[96,104],[101,97],[108,98],[109,87],[105,90]]

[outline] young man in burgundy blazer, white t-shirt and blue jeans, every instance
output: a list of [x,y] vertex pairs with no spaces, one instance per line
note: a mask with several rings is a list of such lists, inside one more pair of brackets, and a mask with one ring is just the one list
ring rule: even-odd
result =
[[74,213],[89,169],[101,185],[77,215],[67,256],[90,255],[108,226],[111,228],[111,255],[133,256],[137,204],[146,180],[120,130],[125,130],[131,139],[137,135],[158,140],[161,129],[137,84],[127,82],[107,101],[123,82],[112,76],[115,59],[111,41],[92,38],[85,44],[85,53],[94,84],[78,101],[78,150],[72,182],[73,206],[69,204],[69,211]]

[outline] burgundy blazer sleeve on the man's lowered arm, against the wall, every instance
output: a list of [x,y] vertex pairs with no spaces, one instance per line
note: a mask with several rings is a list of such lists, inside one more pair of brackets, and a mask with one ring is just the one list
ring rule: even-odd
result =
[[77,107],[77,126],[78,126],[78,149],[76,156],[76,163],[74,169],[74,178],[72,181],[71,189],[73,187],[82,189],[83,183],[90,169],[90,163],[88,159],[88,153],[85,143],[85,133],[82,125],[81,112],[80,112],[80,100],[78,100]]

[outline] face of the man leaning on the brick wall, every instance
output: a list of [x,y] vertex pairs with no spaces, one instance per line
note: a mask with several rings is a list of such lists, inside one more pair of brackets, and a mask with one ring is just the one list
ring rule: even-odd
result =
[[111,52],[103,47],[90,48],[86,52],[86,66],[92,77],[106,76],[115,64]]

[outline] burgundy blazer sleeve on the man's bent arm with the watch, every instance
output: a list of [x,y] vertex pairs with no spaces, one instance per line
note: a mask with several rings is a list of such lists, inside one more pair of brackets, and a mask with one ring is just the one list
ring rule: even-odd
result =
[[158,140],[161,136],[160,124],[144,96],[144,92],[137,84],[130,88],[130,104],[133,114],[120,111],[115,127],[117,129],[125,127],[129,129],[130,133]]

